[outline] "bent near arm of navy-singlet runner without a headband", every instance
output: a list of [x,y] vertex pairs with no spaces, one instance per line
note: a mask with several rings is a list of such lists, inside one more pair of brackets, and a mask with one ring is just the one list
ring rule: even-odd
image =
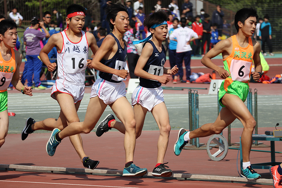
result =
[[91,64],[89,65],[89,68],[94,68],[102,72],[114,74],[125,79],[128,76],[128,70],[113,69],[101,63],[101,60],[104,57],[106,57],[105,59],[111,59],[110,55],[112,54],[115,44],[116,44],[116,40],[112,36],[110,35],[106,36],[100,48],[98,49],[97,53],[94,55]]

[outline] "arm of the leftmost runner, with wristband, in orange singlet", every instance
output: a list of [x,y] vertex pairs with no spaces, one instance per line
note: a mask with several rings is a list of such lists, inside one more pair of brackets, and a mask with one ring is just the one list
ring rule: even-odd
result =
[[15,67],[16,71],[13,74],[13,78],[11,82],[13,86],[16,88],[16,90],[21,91],[22,88],[24,87],[23,89],[24,94],[32,96],[31,87],[24,86],[22,82],[20,81],[19,67],[21,66],[21,63],[22,63],[22,55],[16,50],[14,50],[14,53],[15,53],[15,61],[16,61],[16,67]]

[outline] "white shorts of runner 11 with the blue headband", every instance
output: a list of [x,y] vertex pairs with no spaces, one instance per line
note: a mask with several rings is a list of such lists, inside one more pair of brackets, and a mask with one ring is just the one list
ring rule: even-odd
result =
[[158,88],[146,88],[138,86],[134,89],[131,96],[131,105],[141,104],[148,109],[148,112],[161,102],[165,102],[162,87]]

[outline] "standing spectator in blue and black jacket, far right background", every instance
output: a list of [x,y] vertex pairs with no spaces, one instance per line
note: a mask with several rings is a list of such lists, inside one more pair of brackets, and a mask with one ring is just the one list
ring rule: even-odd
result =
[[267,55],[266,51],[265,51],[265,42],[268,45],[269,48],[269,55],[274,55],[272,53],[272,43],[271,43],[271,26],[269,23],[269,16],[268,14],[266,14],[264,16],[264,22],[260,25],[259,28],[259,39],[261,39],[261,50],[263,51],[263,55]]

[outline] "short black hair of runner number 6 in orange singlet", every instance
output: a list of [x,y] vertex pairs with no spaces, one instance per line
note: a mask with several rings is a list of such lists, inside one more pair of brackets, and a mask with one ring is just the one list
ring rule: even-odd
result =
[[256,19],[259,18],[257,10],[255,8],[241,8],[237,11],[234,18],[234,25],[237,32],[239,31],[238,21],[245,24],[246,19],[248,19],[249,17],[256,17]]

